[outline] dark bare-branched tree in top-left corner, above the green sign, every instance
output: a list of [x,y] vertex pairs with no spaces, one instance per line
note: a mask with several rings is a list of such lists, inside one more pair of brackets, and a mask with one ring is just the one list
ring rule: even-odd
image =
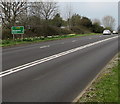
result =
[[9,27],[8,25],[14,25],[20,15],[25,13],[27,9],[27,2],[18,2],[13,0],[7,0],[6,2],[6,0],[1,0],[0,8],[2,23],[4,26]]

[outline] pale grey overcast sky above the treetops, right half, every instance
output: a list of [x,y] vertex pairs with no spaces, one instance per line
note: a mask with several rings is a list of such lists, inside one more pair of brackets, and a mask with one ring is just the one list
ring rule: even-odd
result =
[[[70,1],[70,0],[69,0]],[[116,28],[118,26],[118,0],[111,2],[94,2],[94,1],[103,1],[103,0],[79,0],[81,2],[59,2],[59,8],[62,14],[62,17],[65,18],[65,14],[68,7],[71,6],[73,13],[80,14],[81,16],[86,16],[92,19],[102,19],[104,16],[110,15],[116,20]],[[90,1],[90,2],[88,2]],[[114,1],[114,0],[112,0]]]

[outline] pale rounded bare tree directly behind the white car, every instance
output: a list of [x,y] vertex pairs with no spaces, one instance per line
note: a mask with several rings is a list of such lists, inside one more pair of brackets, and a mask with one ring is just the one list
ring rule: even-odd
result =
[[114,29],[115,19],[112,16],[103,17],[102,22],[105,28],[110,28],[111,30]]

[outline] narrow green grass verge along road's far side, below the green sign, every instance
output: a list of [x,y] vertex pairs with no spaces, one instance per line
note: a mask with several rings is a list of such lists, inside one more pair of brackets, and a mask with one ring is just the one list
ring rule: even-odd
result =
[[48,36],[48,37],[30,37],[30,38],[24,38],[24,39],[7,39],[2,40],[0,42],[0,46],[13,46],[18,44],[27,44],[27,43],[36,43],[36,42],[42,42],[42,41],[49,41],[49,40],[58,40],[63,38],[70,38],[70,37],[78,37],[78,36],[89,36],[89,35],[99,35],[96,33],[89,33],[89,34],[69,34],[69,35],[60,35],[60,36]]

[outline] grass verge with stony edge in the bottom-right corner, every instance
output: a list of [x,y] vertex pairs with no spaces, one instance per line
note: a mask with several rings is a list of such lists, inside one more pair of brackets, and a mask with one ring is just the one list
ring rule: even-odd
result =
[[120,86],[120,83],[118,83],[118,69],[120,69],[120,60],[118,61],[118,58],[116,58],[86,90],[78,103],[118,102],[118,86]]

